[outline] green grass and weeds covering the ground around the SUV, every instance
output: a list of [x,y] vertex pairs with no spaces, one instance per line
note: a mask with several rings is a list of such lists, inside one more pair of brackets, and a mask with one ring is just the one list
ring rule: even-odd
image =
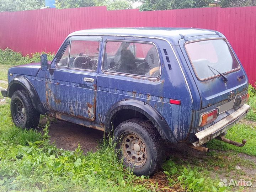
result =
[[[10,66],[38,62],[39,55],[36,53],[23,58],[10,49],[0,50],[0,80],[7,81]],[[5,88],[5,82],[0,82],[0,86]],[[256,91],[250,86],[249,92],[251,110],[246,119],[256,121]],[[41,116],[40,119],[45,118]],[[232,189],[218,187],[220,180],[218,177],[213,179],[211,172],[228,177],[232,176],[231,172],[236,172],[236,165],[256,169],[255,162],[237,155],[256,156],[256,130],[250,124],[237,124],[228,130],[226,137],[229,139],[239,142],[247,139],[242,148],[212,140],[207,146],[213,150],[201,159],[189,156],[187,160],[174,157],[167,160],[162,166],[163,172],[158,173],[164,185],[160,185],[158,176],[137,177],[124,169],[122,161],[117,160],[111,137],[104,139],[95,153],[84,155],[80,147],[68,151],[50,144],[49,124],[41,126],[46,127],[43,134],[38,130],[15,127],[10,116],[10,100],[0,105],[0,191],[224,192]]]

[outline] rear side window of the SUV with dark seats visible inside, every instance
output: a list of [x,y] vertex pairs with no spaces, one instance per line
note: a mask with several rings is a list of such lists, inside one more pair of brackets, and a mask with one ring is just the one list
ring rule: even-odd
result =
[[160,75],[157,49],[150,43],[107,41],[103,70],[157,78]]

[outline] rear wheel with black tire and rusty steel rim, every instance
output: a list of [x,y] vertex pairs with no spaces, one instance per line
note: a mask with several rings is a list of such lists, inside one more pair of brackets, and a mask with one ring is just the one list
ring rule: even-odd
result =
[[114,143],[119,160],[137,176],[150,176],[162,164],[161,138],[149,121],[129,119],[114,130]]

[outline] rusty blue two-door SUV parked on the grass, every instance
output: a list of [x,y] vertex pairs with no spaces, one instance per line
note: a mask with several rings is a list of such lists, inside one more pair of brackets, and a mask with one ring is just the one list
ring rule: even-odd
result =
[[[110,28],[69,34],[52,62],[12,67],[16,126],[36,128],[40,114],[114,134],[123,164],[151,175],[164,145],[194,149],[245,116],[248,79],[223,34],[196,28]],[[72,129],[72,127],[70,127]]]

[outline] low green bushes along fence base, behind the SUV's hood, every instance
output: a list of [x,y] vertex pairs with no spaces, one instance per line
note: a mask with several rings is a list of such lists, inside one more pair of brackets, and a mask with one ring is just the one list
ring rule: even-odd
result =
[[[4,50],[0,49],[0,65],[22,65],[27,63],[38,63],[40,62],[41,53],[31,53],[31,55],[22,56],[20,52],[15,52],[9,48],[5,48]],[[48,60],[52,60],[54,57],[54,53],[48,53]]]

